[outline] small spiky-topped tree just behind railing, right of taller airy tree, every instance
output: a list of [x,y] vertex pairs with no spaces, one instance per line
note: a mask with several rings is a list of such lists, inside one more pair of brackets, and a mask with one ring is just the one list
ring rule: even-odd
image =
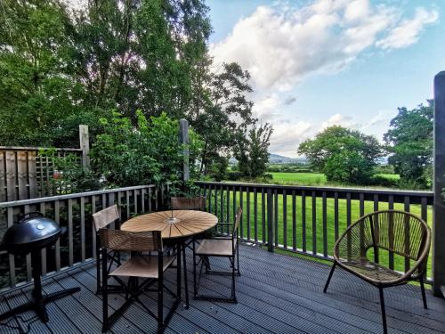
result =
[[248,136],[246,132],[239,132],[233,153],[243,176],[255,178],[266,172],[272,131],[272,126],[266,123],[252,127]]

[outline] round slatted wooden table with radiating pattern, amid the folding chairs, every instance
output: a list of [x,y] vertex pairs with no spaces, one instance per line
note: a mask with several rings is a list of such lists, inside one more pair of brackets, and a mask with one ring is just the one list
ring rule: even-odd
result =
[[[189,308],[189,287],[187,283],[187,262],[185,258],[186,240],[195,234],[206,232],[217,223],[218,218],[208,212],[168,210],[136,216],[122,224],[120,229],[128,232],[162,231],[162,239],[173,240],[176,243],[178,251],[182,252],[185,308]],[[181,259],[181,257],[178,257],[178,259]],[[179,261],[178,265],[181,265]]]

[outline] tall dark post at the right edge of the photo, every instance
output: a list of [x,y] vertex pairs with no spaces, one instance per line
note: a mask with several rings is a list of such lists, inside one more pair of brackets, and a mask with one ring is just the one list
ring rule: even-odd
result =
[[433,293],[445,293],[445,71],[434,77]]

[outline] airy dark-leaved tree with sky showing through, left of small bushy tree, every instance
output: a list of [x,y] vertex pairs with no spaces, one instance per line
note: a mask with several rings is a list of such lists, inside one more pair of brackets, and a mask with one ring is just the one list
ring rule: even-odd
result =
[[[188,118],[204,140],[201,153],[201,173],[227,166],[239,131],[255,124],[253,102],[247,99],[252,92],[250,75],[238,63],[223,64],[218,73],[208,69],[211,61],[201,64],[194,86],[197,98],[190,105]],[[215,166],[213,166],[215,165]]]

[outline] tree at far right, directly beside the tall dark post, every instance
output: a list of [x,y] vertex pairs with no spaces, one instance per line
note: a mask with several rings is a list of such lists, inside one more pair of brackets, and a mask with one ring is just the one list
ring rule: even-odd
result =
[[401,175],[401,181],[410,187],[427,187],[432,180],[433,101],[413,110],[399,108],[384,141],[392,153],[388,163]]

